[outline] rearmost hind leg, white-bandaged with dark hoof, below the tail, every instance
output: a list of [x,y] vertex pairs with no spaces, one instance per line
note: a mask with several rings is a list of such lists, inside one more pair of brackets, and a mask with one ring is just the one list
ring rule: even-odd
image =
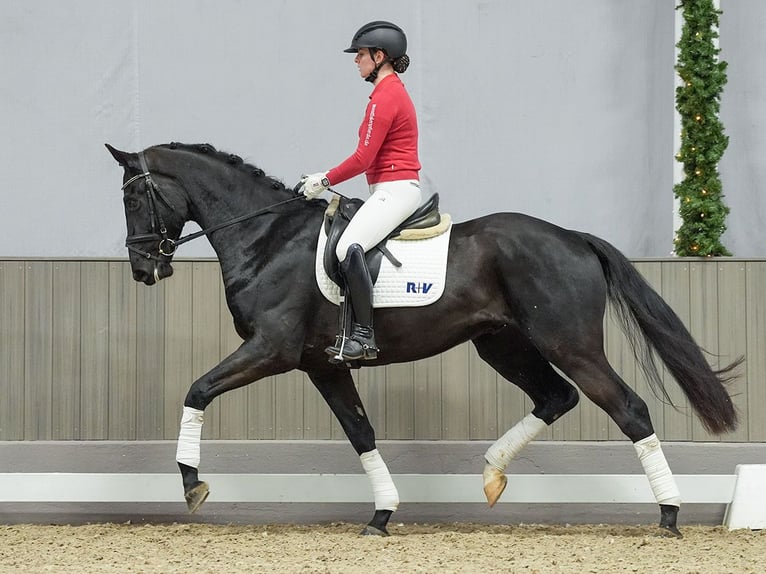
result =
[[612,369],[600,347],[595,355],[578,359],[562,355],[555,362],[633,441],[652,493],[660,505],[660,528],[680,537],[677,521],[681,495],[660,441],[654,434],[644,400]]

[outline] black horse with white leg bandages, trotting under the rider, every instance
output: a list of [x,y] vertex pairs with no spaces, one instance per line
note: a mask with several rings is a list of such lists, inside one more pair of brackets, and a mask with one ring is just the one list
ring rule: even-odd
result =
[[[669,400],[656,355],[712,433],[736,428],[726,385],[742,358],[713,370],[679,317],[613,245],[519,213],[455,223],[442,296],[422,307],[376,309],[379,356],[331,364],[325,348],[338,326],[338,307],[321,294],[315,272],[325,200],[306,201],[262,169],[209,144],[170,143],[133,153],[106,147],[124,171],[133,278],[153,285],[170,277],[176,247],[207,236],[243,340],[191,384],[184,400],[176,460],[190,512],[209,493],[198,474],[205,408],[229,390],[299,369],[337,417],[371,482],[375,512],[361,534],[387,536],[399,497],[351,368],[415,361],[471,341],[481,359],[533,403],[487,450],[483,479],[490,506],[506,487],[504,471],[513,457],[575,407],[582,392],[634,444],[659,504],[660,532],[681,536],[680,494],[647,405],[604,353],[607,302],[653,391]],[[187,221],[202,230],[181,237]],[[426,329],[428,337],[418,335]]]

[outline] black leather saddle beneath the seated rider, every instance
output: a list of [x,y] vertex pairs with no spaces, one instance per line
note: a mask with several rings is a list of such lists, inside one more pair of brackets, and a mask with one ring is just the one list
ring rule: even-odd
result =
[[[338,257],[335,254],[335,249],[341,235],[343,235],[346,227],[348,227],[351,218],[354,217],[354,214],[356,214],[363,204],[364,201],[359,198],[348,198],[336,195],[325,212],[324,230],[327,234],[327,244],[325,245],[323,256],[324,268],[327,276],[341,288],[343,288],[343,279],[340,275],[340,265]],[[333,210],[332,208],[334,205],[336,207]],[[434,193],[423,205],[415,210],[415,213],[405,219],[386,238],[365,254],[367,267],[370,270],[370,277],[372,278],[373,284],[378,279],[380,262],[383,255],[386,255],[395,267],[401,266],[401,263],[391,255],[388,249],[386,249],[386,242],[389,239],[398,237],[405,229],[425,229],[438,225],[440,222],[439,194]]]

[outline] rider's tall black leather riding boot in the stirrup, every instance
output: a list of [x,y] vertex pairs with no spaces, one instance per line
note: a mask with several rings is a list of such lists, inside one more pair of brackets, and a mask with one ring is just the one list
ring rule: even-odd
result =
[[375,359],[378,347],[372,329],[372,279],[361,245],[354,243],[348,248],[340,271],[346,282],[346,296],[351,300],[354,320],[351,335],[345,340],[338,337],[340,346],[327,347],[326,352],[343,361]]

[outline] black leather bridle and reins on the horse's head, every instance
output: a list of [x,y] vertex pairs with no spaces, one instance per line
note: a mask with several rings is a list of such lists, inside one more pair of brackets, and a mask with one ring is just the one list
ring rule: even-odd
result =
[[[122,187],[120,189],[124,191],[125,188],[127,188],[129,185],[131,185],[135,181],[138,181],[141,178],[144,178],[144,181],[146,182],[146,197],[149,204],[149,218],[152,224],[152,232],[142,233],[138,235],[128,235],[127,238],[125,239],[125,246],[128,248],[128,251],[132,251],[133,253],[136,253],[140,255],[141,257],[144,257],[145,259],[153,259],[154,261],[159,261],[159,262],[169,261],[175,254],[176,248],[179,245],[186,243],[187,241],[191,241],[192,239],[202,237],[203,235],[208,235],[212,233],[213,231],[223,229],[224,227],[235,225],[237,223],[240,223],[252,217],[256,217],[257,215],[262,215],[264,213],[271,211],[275,207],[279,207],[280,205],[284,205],[292,201],[297,201],[299,199],[305,199],[303,195],[296,195],[295,197],[291,197],[290,199],[286,199],[284,201],[279,201],[277,203],[274,203],[272,205],[269,205],[267,207],[254,211],[252,213],[240,215],[239,217],[235,217],[234,219],[230,219],[229,221],[224,221],[223,223],[213,225],[206,229],[202,229],[201,231],[190,233],[189,235],[185,235],[184,237],[180,237],[178,239],[173,239],[168,236],[168,230],[167,230],[167,226],[165,225],[165,219],[162,217],[162,213],[160,212],[160,210],[157,209],[157,206],[158,206],[158,203],[162,203],[168,209],[170,209],[171,212],[176,211],[175,207],[173,207],[173,204],[168,200],[167,197],[165,197],[165,195],[160,191],[160,188],[152,179],[152,174],[149,172],[149,167],[146,164],[146,158],[144,157],[144,152],[139,152],[138,159],[141,162],[141,170],[143,171],[143,173],[139,173],[138,175],[134,175],[133,177],[128,179],[125,183],[122,184]],[[137,243],[146,243],[148,241],[158,242],[157,255],[153,254],[150,251],[143,251],[135,246]],[[163,259],[163,257],[167,259]],[[158,271],[156,267],[154,269],[154,276],[155,276],[155,279],[159,280]]]

